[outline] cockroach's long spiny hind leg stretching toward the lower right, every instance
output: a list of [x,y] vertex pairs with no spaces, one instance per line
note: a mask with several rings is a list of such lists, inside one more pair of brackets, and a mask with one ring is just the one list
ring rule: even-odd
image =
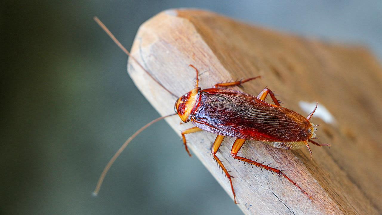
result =
[[309,195],[308,193],[306,193],[300,186],[298,186],[298,185],[296,184],[296,182],[292,181],[290,178],[288,178],[288,176],[286,176],[286,175],[282,172],[283,169],[272,168],[272,167],[270,167],[270,166],[263,165],[262,163],[257,163],[256,161],[253,161],[253,160],[250,160],[250,159],[247,159],[247,158],[243,158],[243,157],[241,157],[241,156],[238,156],[237,154],[238,154],[240,148],[243,146],[244,142],[245,142],[244,139],[239,139],[239,138],[237,138],[237,139],[235,140],[235,142],[233,143],[232,149],[231,149],[231,156],[232,156],[233,158],[235,158],[235,159],[237,159],[237,160],[241,160],[241,161],[247,162],[247,163],[249,163],[249,164],[251,164],[251,165],[258,166],[258,167],[260,167],[260,168],[264,168],[264,169],[266,169],[266,170],[268,170],[268,171],[271,171],[271,173],[272,173],[272,172],[277,173],[278,176],[286,178],[288,181],[290,181],[292,184],[294,184],[296,187],[298,187],[298,189],[299,189],[301,192],[303,192],[306,196],[308,196],[309,199],[312,199],[312,196],[311,196],[311,195]]

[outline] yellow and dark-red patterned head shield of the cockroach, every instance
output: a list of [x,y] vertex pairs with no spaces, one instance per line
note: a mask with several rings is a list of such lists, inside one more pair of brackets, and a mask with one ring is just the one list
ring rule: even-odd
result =
[[176,100],[174,107],[175,112],[183,122],[190,121],[191,116],[196,109],[197,101],[199,100],[200,90],[200,87],[194,88]]

